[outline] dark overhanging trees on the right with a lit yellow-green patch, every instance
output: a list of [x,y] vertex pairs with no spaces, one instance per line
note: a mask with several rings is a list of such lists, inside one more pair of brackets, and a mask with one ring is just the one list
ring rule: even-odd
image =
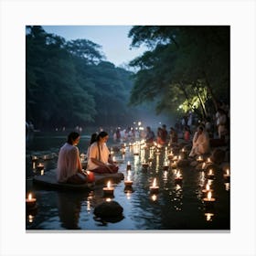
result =
[[229,104],[229,26],[135,26],[132,47],[149,50],[130,62],[138,68],[130,104],[157,101],[157,112],[207,117]]

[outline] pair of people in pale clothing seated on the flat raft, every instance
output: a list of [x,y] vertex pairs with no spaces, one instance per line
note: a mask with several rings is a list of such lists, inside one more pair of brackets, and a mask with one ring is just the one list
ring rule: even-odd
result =
[[[112,157],[107,146],[109,135],[101,133],[91,134],[91,142],[88,148],[87,171],[97,174],[117,173],[118,165],[112,162]],[[88,172],[83,171],[80,162],[80,133],[69,133],[68,140],[59,150],[57,164],[57,180],[60,183],[84,184],[90,180]]]

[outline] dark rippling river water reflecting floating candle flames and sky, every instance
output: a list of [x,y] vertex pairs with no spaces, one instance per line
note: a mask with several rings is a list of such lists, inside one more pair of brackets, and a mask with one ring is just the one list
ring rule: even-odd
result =
[[[225,230],[230,229],[230,189],[223,178],[223,171],[217,170],[211,181],[216,201],[206,208],[202,188],[207,178],[205,173],[195,167],[179,168],[183,182],[175,182],[176,168],[164,170],[164,150],[154,155],[152,166],[147,170],[141,165],[142,155],[133,155],[131,147],[126,146],[125,155],[115,152],[120,172],[126,179],[127,161],[131,162],[130,172],[133,180],[132,191],[124,189],[123,180],[114,184],[112,200],[123,207],[123,216],[119,219],[98,219],[94,208],[104,199],[102,187],[91,191],[58,191],[33,184],[33,176],[41,175],[35,170],[31,157],[37,155],[45,166],[44,172],[57,165],[59,148],[66,142],[67,134],[35,133],[27,140],[26,150],[26,190],[37,198],[37,209],[27,212],[27,230]],[[81,135],[80,153],[86,153],[90,135]],[[108,146],[113,145],[112,139]],[[50,159],[47,158],[49,155]],[[144,152],[148,158],[149,151]],[[156,178],[159,192],[153,195],[149,187]]]

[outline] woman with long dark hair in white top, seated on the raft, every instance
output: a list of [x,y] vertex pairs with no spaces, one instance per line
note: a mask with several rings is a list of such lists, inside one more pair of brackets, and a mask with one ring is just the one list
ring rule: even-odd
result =
[[96,142],[91,144],[87,169],[98,174],[114,174],[118,165],[114,165],[107,147],[108,133],[102,131],[97,135]]

